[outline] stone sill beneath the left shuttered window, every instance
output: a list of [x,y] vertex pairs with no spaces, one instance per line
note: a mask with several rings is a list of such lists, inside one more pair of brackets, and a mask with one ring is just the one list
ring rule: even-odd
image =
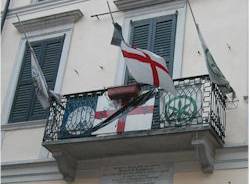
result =
[[46,119],[42,119],[42,120],[34,120],[26,122],[8,123],[5,125],[1,125],[1,129],[3,131],[10,131],[10,130],[41,128],[45,127],[46,121],[47,121]]

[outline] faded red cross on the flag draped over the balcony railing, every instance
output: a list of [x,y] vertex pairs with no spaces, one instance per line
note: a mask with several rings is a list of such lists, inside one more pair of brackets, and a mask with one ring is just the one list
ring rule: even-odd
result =
[[[154,106],[149,105],[149,106],[140,106],[132,110],[131,112],[128,113],[128,115],[137,115],[137,114],[148,114],[148,113],[153,113],[154,111]],[[107,118],[110,115],[112,115],[115,112],[115,110],[111,111],[98,111],[95,113],[95,118],[96,119],[102,119],[102,118]],[[126,117],[127,116],[122,116],[117,123],[116,126],[116,132],[117,134],[122,134],[125,129],[125,123],[126,123]]]

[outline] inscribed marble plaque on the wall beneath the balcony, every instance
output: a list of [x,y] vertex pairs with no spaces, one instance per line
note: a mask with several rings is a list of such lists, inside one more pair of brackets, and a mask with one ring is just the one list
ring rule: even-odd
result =
[[101,184],[172,184],[172,164],[133,164],[103,169]]

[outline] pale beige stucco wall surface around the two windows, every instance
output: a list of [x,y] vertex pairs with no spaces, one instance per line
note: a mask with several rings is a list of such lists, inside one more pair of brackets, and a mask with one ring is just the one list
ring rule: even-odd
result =
[[[30,2],[28,1],[16,0],[15,6],[26,5]],[[243,96],[247,95],[248,1],[191,0],[190,2],[218,66],[236,90],[240,100],[238,108],[227,113],[226,144],[246,144],[248,104],[243,101]],[[80,9],[84,17],[75,24],[73,29],[61,93],[88,91],[114,85],[120,53],[118,48],[110,45],[113,32],[110,17],[103,16],[100,17],[100,20],[90,17],[93,14],[107,12],[105,0],[91,0],[32,13],[21,16],[21,19],[32,19],[72,9]],[[112,9],[116,9],[113,4]],[[115,19],[123,23],[123,14],[115,14]],[[13,22],[16,22],[15,17],[8,18],[2,33],[2,109],[5,109],[5,99],[9,95],[10,85],[13,85],[14,67],[18,58],[21,57],[19,52],[21,34],[12,25]],[[207,73],[203,56],[197,54],[197,50],[200,50],[201,53],[202,51],[189,10],[187,10],[184,33],[182,76]],[[227,43],[231,46],[231,50],[227,48]],[[99,65],[104,69],[100,69]],[[76,75],[74,69],[78,70],[79,76]],[[5,132],[3,134],[2,160],[38,158],[42,134],[43,129]],[[16,150],[17,148],[18,150]]]

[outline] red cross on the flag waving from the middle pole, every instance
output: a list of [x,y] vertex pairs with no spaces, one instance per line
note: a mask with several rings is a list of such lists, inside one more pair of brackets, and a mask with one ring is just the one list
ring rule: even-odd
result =
[[159,87],[160,80],[159,80],[159,75],[158,75],[156,68],[158,67],[158,68],[162,69],[162,71],[164,71],[166,74],[168,74],[167,67],[165,67],[164,65],[151,59],[151,57],[147,53],[145,53],[143,51],[140,51],[140,52],[142,52],[145,55],[145,57],[141,56],[139,54],[135,54],[135,53],[131,53],[131,52],[127,52],[125,50],[122,50],[122,54],[124,57],[130,58],[130,59],[136,59],[137,61],[140,61],[142,63],[150,64],[152,74],[153,74],[153,79],[154,79],[154,86]]

